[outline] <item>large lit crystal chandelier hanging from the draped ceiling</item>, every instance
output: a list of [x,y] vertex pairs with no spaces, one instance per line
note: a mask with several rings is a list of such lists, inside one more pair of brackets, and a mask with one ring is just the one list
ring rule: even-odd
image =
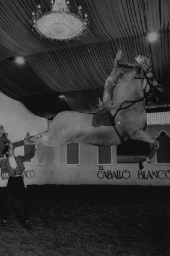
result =
[[82,7],[79,6],[78,14],[70,12],[69,1],[52,0],[50,11],[42,13],[41,5],[38,5],[37,13],[32,13],[32,31],[49,40],[68,41],[79,38],[87,33],[88,16],[83,16]]

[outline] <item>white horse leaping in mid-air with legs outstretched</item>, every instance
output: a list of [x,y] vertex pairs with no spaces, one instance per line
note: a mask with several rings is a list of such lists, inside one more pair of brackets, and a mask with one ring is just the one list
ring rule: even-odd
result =
[[[159,142],[144,131],[147,126],[144,91],[159,85],[151,73],[148,58],[139,55],[135,63],[121,63],[121,57],[119,50],[114,70],[105,83],[103,101],[99,102],[97,110],[101,113],[111,111],[113,126],[94,127],[93,114],[62,111],[54,117],[45,136],[29,137],[27,143],[59,148],[70,143],[112,146],[133,139],[152,143],[155,153]],[[150,155],[153,157],[153,153]],[[145,158],[142,167],[148,161],[150,159]]]

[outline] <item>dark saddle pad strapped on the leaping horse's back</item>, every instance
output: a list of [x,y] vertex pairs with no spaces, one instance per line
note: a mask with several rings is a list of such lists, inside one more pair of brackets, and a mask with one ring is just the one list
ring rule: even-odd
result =
[[107,113],[97,113],[93,115],[93,121],[92,124],[94,127],[98,127],[100,125],[106,125],[106,126],[112,126],[112,114],[111,112],[107,112]]

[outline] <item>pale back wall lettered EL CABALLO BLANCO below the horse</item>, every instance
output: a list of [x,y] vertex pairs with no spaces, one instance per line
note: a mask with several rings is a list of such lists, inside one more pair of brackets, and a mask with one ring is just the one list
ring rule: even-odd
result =
[[[165,130],[170,136],[170,125],[148,126],[147,128],[147,132],[154,137],[159,136],[162,130]],[[97,165],[97,146],[81,144],[80,165],[72,166],[65,164],[65,146],[49,150],[49,184],[170,185],[170,164],[156,164],[156,157],[153,157],[151,163],[147,164],[140,172],[138,163],[117,163],[116,146],[112,150],[113,164],[103,166]],[[125,170],[127,172],[124,172]],[[118,178],[112,176],[114,172],[116,175],[120,174]],[[157,178],[154,176],[151,178],[153,172],[159,172]],[[129,175],[130,177],[127,178]]]

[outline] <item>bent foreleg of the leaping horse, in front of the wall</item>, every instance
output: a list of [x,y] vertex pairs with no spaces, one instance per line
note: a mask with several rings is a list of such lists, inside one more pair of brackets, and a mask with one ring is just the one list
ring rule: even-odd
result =
[[145,157],[144,160],[139,162],[139,169],[141,170],[147,165],[147,163],[150,163],[151,159],[156,154],[157,149],[159,149],[159,141],[157,139],[154,139],[154,137],[151,137],[145,131],[139,131],[138,133],[135,133],[135,137],[132,137],[131,139],[142,140],[143,142],[153,144],[147,157]]

